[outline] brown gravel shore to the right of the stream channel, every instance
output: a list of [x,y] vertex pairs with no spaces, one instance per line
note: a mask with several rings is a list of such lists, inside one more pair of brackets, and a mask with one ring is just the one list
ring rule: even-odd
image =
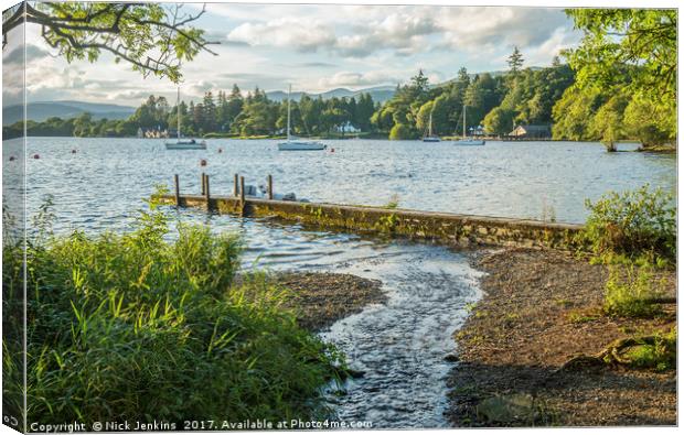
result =
[[[448,384],[456,426],[675,425],[676,372],[587,367],[555,372],[616,339],[667,331],[676,307],[653,319],[601,315],[608,269],[569,254],[507,249],[480,255],[483,300],[457,334]],[[665,272],[672,295],[675,272]]]

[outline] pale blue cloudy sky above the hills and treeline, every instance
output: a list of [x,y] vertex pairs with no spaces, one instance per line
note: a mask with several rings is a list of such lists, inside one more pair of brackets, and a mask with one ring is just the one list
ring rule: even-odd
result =
[[[184,8],[196,12],[202,4]],[[195,100],[233,84],[244,91],[286,90],[291,84],[307,93],[396,86],[419,68],[430,83],[440,83],[460,67],[506,69],[514,46],[526,66],[545,66],[581,37],[562,9],[515,7],[207,3],[194,25],[220,43],[212,45],[217,56],[202,53],[183,65],[183,99]],[[9,36],[6,67],[21,57]],[[138,106],[151,94],[175,100],[174,84],[143,79],[109,55],[68,64],[41,40],[38,25],[28,25],[26,42],[29,101]],[[4,105],[18,98],[17,87],[6,84]]]

